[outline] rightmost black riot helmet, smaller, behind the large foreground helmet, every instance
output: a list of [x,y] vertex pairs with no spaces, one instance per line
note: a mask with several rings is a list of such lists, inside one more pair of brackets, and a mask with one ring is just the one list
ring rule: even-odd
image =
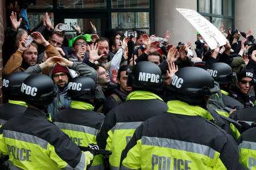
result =
[[233,73],[232,68],[224,62],[213,63],[207,71],[220,85],[232,84],[237,80],[236,73]]

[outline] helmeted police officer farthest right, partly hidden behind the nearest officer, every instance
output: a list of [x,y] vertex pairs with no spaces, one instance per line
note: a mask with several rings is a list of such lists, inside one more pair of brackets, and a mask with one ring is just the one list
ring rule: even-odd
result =
[[[241,104],[236,99],[233,99],[230,96],[236,97],[230,91],[230,87],[232,83],[236,83],[236,73],[233,73],[232,68],[223,62],[216,62],[209,66],[207,69],[208,73],[212,75],[214,80],[220,84],[220,89],[222,93],[222,97],[224,99],[224,104],[226,107],[231,109],[242,109],[243,104]],[[221,112],[221,111],[220,111]],[[218,113],[220,113],[218,112]],[[225,111],[224,111],[225,112]],[[223,113],[227,117],[228,114]]]

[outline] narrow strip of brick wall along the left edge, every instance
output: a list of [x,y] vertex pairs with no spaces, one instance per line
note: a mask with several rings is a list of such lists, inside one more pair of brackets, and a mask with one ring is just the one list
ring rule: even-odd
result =
[[2,46],[5,40],[6,24],[6,0],[0,0],[0,104],[2,104],[2,69],[3,69],[3,55]]

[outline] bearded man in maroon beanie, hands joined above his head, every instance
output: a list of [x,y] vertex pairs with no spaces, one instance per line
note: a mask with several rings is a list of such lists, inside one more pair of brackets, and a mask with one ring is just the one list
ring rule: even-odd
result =
[[59,88],[57,97],[55,97],[53,102],[49,104],[47,108],[48,113],[51,113],[51,116],[60,109],[69,108],[71,105],[71,100],[67,97],[68,82],[75,77],[71,71],[80,73],[79,75],[81,76],[89,76],[95,82],[97,82],[98,78],[96,70],[92,67],[81,62],[69,61],[61,56],[51,57],[39,65],[31,66],[26,70],[26,73],[44,73],[44,70],[48,68],[51,68],[49,76]]

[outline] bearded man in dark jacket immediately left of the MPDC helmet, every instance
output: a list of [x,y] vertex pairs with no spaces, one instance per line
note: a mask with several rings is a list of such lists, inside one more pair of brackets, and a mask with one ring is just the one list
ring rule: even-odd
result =
[[106,100],[103,104],[102,112],[104,114],[108,113],[111,109],[113,109],[118,104],[123,103],[126,100],[127,95],[131,92],[131,87],[127,86],[127,75],[126,71],[128,66],[122,66],[118,70],[117,81],[119,87],[113,88],[112,95],[106,97]]

